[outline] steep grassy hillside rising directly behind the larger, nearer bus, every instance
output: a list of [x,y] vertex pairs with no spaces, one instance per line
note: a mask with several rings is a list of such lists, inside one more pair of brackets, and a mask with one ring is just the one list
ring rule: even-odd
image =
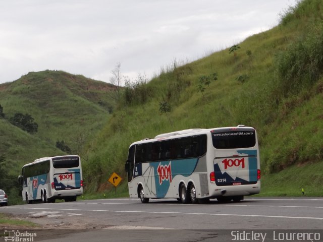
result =
[[[244,124],[258,131],[263,195],[297,196],[304,188],[306,195],[322,196],[322,21],[323,2],[304,0],[235,53],[225,49],[184,66],[174,63],[147,84],[126,86],[85,163],[89,190],[110,189],[106,180],[114,171],[125,177],[134,141]],[[159,110],[163,102],[171,107],[169,118]],[[127,190],[126,181],[119,190]]]

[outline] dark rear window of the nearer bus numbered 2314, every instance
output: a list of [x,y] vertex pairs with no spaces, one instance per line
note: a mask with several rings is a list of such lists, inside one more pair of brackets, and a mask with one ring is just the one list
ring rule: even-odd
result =
[[212,132],[212,142],[217,149],[240,149],[254,147],[256,134],[254,130],[230,130]]

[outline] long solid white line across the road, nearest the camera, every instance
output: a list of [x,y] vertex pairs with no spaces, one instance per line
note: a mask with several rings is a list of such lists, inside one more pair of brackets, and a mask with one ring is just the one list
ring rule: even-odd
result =
[[224,214],[224,213],[184,213],[184,212],[152,212],[152,211],[124,211],[124,210],[96,210],[96,209],[67,209],[67,208],[19,208],[15,209],[46,209],[63,211],[87,211],[87,212],[110,212],[110,213],[152,213],[152,214],[185,214],[185,215],[211,215],[211,216],[237,216],[237,217],[266,217],[266,218],[291,218],[291,219],[315,219],[323,220],[320,217],[294,217],[294,216],[275,216],[275,215],[252,215],[252,214]]

